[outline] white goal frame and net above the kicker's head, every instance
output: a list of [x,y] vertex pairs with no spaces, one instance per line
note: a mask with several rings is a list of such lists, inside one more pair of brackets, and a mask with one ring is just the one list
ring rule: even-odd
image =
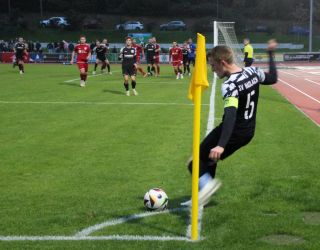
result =
[[213,22],[213,46],[229,46],[233,50],[236,64],[242,67],[243,54],[236,36],[234,24],[234,22]]

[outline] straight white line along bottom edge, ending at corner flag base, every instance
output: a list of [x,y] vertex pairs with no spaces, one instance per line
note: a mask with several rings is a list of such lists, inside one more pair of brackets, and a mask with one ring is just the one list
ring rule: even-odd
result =
[[190,241],[186,237],[179,236],[153,236],[153,235],[108,235],[108,236],[0,236],[0,241]]

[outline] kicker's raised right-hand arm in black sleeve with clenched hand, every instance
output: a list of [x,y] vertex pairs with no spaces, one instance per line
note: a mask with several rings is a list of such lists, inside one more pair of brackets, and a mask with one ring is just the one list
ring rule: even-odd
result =
[[272,85],[278,81],[277,67],[274,61],[274,51],[277,48],[277,46],[278,46],[278,43],[275,39],[271,39],[268,42],[267,51],[269,54],[269,73],[266,73],[266,72],[264,73],[265,78],[264,78],[264,81],[262,81],[261,83],[263,85]]

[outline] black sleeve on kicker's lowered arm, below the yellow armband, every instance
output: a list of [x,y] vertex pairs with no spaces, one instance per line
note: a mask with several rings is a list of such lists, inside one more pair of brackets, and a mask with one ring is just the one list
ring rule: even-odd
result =
[[224,119],[222,124],[222,132],[218,142],[218,146],[225,148],[233,132],[237,118],[237,108],[227,107],[224,109]]

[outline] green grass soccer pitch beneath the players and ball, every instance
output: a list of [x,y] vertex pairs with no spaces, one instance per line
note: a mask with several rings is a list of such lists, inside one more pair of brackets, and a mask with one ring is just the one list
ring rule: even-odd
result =
[[[123,91],[120,67],[78,86],[75,66],[0,65],[0,236],[72,236],[145,212],[163,188],[169,208],[190,196],[193,106],[189,78],[138,78]],[[212,76],[209,76],[210,79]],[[216,114],[222,116],[220,84]],[[202,136],[210,90],[203,95]],[[219,119],[216,119],[216,123]],[[205,208],[197,243],[186,241],[0,241],[0,249],[320,249],[319,128],[271,87],[262,87],[254,140],[221,162],[223,186]],[[306,223],[313,213],[313,222]],[[104,228],[101,235],[181,236],[183,211]],[[291,235],[301,241],[267,243]],[[281,245],[284,244],[284,245]]]

